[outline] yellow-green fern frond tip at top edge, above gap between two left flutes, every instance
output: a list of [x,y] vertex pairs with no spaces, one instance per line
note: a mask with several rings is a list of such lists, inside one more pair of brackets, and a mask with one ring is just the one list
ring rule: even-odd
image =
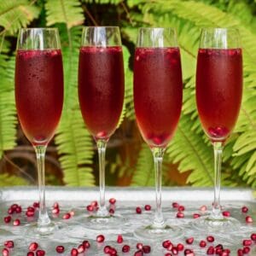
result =
[[84,23],[83,9],[78,0],[48,0],[45,4],[47,26],[66,23],[67,28]]

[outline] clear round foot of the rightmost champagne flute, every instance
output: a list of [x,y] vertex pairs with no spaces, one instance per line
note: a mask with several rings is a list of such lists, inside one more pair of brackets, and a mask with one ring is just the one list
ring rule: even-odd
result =
[[208,232],[233,232],[241,227],[236,218],[212,218],[211,215],[196,218],[192,225],[196,230]]

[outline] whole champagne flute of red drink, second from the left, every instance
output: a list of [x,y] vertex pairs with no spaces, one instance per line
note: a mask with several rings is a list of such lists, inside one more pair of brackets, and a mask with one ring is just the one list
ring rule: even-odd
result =
[[87,26],[79,53],[79,104],[84,123],[96,141],[99,159],[99,209],[87,228],[117,229],[121,218],[105,203],[105,152],[117,128],[125,93],[122,44],[118,26]]

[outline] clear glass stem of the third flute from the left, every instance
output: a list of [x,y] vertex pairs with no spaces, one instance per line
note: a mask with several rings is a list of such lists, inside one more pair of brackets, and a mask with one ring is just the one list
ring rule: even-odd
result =
[[162,189],[162,163],[165,148],[152,148],[154,156],[154,172],[155,172],[155,204],[156,209],[154,213],[154,228],[164,228],[165,220],[162,213],[162,200],[161,200],[161,189]]

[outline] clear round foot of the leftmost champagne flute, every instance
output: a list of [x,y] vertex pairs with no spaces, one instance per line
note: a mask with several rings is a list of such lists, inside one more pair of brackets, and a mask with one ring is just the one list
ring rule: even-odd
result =
[[24,228],[26,229],[26,237],[40,239],[55,236],[59,231],[67,229],[67,224],[51,221],[47,225],[39,226],[38,223],[35,222],[25,225]]

